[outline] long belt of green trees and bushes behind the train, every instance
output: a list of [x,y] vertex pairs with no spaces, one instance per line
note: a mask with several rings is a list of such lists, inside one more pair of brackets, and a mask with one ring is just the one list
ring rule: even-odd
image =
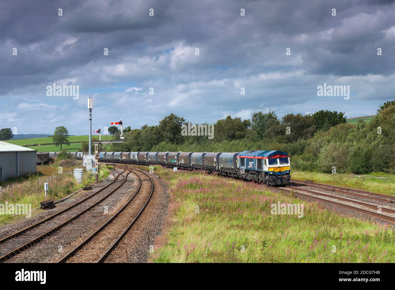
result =
[[[395,100],[380,107],[370,123],[346,123],[343,112],[314,114],[254,112],[249,120],[227,116],[214,123],[214,138],[182,136],[188,121],[175,114],[158,125],[124,130],[125,142],[109,151],[240,152],[281,150],[294,169],[318,172],[395,172]],[[196,125],[207,125],[196,124]],[[119,131],[115,133],[115,139]]]

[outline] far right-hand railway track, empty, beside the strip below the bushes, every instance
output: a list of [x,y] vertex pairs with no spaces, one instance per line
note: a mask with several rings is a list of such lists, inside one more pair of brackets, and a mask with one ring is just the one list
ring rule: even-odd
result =
[[[372,193],[369,191],[363,191],[363,190],[359,190],[359,189],[351,189],[351,188],[316,183],[316,182],[311,182],[311,181],[302,181],[302,180],[295,180],[295,179],[291,179],[291,181],[297,185],[306,185],[306,186],[316,187],[316,188],[325,189],[325,190],[337,191],[337,192],[344,193],[347,195],[354,195],[354,196],[360,196],[360,197],[364,197],[364,198],[371,198],[371,199],[375,199],[375,200],[380,200],[382,202],[389,202],[389,203],[395,202],[395,196],[391,196],[391,195],[383,195],[381,193]],[[353,191],[357,192],[357,193],[354,193]],[[380,197],[377,197],[377,196],[380,196]]]

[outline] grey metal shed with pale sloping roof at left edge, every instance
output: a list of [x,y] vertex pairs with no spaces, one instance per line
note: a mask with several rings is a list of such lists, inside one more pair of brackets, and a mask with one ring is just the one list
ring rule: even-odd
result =
[[0,141],[0,181],[36,172],[36,150]]

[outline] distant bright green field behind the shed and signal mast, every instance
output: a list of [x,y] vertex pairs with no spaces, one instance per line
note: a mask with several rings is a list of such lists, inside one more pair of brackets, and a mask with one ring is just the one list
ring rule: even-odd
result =
[[[94,140],[98,138],[98,136],[93,136]],[[105,136],[102,136],[102,140],[105,140]],[[111,136],[107,136],[107,139],[111,140]],[[80,135],[80,136],[70,136],[69,142],[77,142],[77,141],[88,141],[88,135]],[[45,143],[53,143],[52,137],[46,138],[32,138],[32,139],[19,139],[19,140],[7,140],[6,142],[24,146],[28,144],[45,144]],[[60,151],[60,146],[55,145],[41,145],[41,146],[29,146],[28,148],[32,148],[37,150],[38,152],[58,152]],[[81,142],[79,143],[71,143],[70,146],[63,145],[62,149],[67,149],[69,152],[79,151],[81,148]]]

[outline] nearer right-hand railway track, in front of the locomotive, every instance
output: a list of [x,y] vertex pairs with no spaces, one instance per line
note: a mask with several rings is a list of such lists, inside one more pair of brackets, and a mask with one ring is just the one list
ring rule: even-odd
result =
[[[367,206],[367,207],[370,207],[370,208],[374,207],[375,209],[377,209],[377,206],[375,206],[375,205],[366,204],[366,203],[363,203],[363,202],[357,202],[355,200],[350,200],[348,198],[341,198],[339,196],[333,196],[333,195],[327,195],[327,194],[324,194],[324,193],[318,193],[316,191],[310,191],[308,189],[300,189],[300,188],[295,189],[295,187],[292,187],[292,186],[289,186],[289,185],[287,187],[289,187],[291,189],[285,189],[285,188],[282,188],[282,187],[278,187],[276,189],[280,189],[282,191],[287,191],[289,193],[295,192],[296,194],[299,194],[299,195],[304,195],[304,196],[307,196],[307,197],[310,197],[310,198],[314,198],[314,199],[318,199],[318,200],[321,200],[321,201],[324,201],[324,202],[329,202],[331,204],[335,204],[335,205],[338,205],[338,206],[350,208],[352,210],[359,211],[359,212],[365,213],[367,215],[371,215],[373,217],[376,217],[376,218],[379,218],[381,220],[384,220],[384,221],[390,222],[392,224],[395,224],[395,217],[390,217],[390,216],[382,214],[382,213],[378,213],[378,212],[374,212],[374,211],[370,211],[370,210],[365,210],[365,209],[362,209],[362,208],[357,208],[355,206],[351,206],[351,205],[344,204],[344,203],[341,203],[341,202],[335,202],[333,200],[329,200],[329,199],[326,199],[326,198],[320,198],[318,196],[312,196],[311,194],[322,195],[322,196],[325,196],[327,198],[335,198],[335,199],[339,199],[339,200],[346,201],[346,202],[352,202],[354,204],[360,204],[360,205]],[[305,191],[305,192],[310,193],[310,194],[301,193],[300,191]],[[388,208],[382,208],[382,210],[383,211],[386,210],[389,213],[395,213],[395,210],[388,209]]]

